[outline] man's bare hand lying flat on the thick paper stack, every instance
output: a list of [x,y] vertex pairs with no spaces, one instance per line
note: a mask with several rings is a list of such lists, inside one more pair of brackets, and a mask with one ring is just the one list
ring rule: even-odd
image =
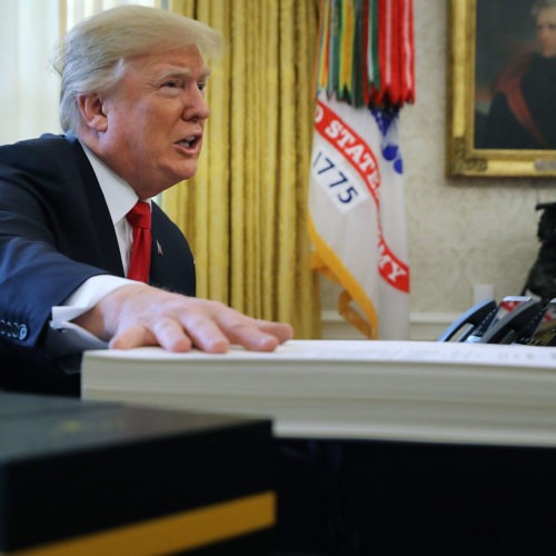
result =
[[230,344],[238,344],[254,351],[272,351],[294,335],[289,325],[258,320],[219,301],[142,284],[116,289],[75,322],[115,349],[161,346],[168,351],[188,351],[196,347],[222,354]]

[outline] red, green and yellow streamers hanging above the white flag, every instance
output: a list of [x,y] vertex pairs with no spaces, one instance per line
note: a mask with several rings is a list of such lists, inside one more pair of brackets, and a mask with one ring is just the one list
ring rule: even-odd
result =
[[316,92],[354,107],[415,102],[413,0],[321,0]]

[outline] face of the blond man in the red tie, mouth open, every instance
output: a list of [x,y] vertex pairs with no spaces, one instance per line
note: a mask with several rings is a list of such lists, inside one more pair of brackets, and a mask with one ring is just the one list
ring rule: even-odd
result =
[[101,157],[140,198],[153,197],[197,171],[209,109],[208,70],[196,47],[128,60],[103,98]]

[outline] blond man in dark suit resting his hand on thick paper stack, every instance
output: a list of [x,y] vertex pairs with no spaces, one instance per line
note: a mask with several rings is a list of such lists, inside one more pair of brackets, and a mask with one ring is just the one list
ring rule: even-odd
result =
[[[291,337],[289,325],[195,298],[187,240],[152,201],[197,170],[206,57],[220,40],[198,21],[131,6],[67,34],[64,136],[0,148],[0,388],[76,395],[87,348],[272,350]],[[128,274],[126,216],[138,201],[151,215],[148,284]]]

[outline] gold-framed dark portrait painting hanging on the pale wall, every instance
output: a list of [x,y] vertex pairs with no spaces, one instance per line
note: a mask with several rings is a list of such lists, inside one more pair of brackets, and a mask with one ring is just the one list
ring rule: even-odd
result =
[[450,0],[447,171],[556,177],[556,0]]

